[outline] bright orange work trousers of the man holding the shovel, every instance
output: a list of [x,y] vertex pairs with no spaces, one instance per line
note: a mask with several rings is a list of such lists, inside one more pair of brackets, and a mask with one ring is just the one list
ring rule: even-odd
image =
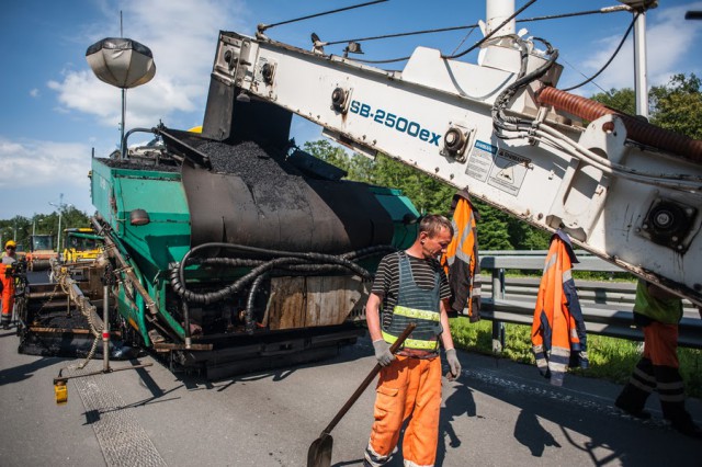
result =
[[403,423],[411,415],[403,438],[405,465],[433,466],[439,442],[441,358],[396,357],[381,369],[365,458],[373,466],[387,462]]

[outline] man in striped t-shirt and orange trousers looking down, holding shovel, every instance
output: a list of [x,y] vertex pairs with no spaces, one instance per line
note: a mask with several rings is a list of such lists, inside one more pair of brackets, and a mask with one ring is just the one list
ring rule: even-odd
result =
[[[405,465],[434,465],[441,408],[440,342],[452,377],[461,373],[444,304],[451,289],[438,261],[452,237],[449,219],[424,216],[412,246],[386,255],[378,265],[365,314],[375,357],[383,368],[364,466],[389,460],[400,428],[410,417],[403,441]],[[417,328],[393,355],[389,345],[412,321]]]

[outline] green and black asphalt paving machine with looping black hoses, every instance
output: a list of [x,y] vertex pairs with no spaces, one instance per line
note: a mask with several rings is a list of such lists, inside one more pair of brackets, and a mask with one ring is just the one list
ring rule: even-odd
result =
[[146,292],[115,263],[125,340],[211,378],[354,342],[377,262],[415,239],[409,200],[340,180],[280,137],[156,133],[162,146],[92,162],[103,234]]

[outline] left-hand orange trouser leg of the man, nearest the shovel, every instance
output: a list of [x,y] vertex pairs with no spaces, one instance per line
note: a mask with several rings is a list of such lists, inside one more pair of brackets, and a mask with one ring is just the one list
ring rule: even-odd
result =
[[397,445],[406,418],[405,400],[410,363],[409,357],[396,355],[396,360],[381,369],[373,409],[375,421],[365,448],[365,465],[377,467],[387,463]]

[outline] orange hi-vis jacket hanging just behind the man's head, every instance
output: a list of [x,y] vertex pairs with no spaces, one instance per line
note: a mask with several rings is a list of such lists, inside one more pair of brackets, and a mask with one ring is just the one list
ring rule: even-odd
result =
[[453,239],[441,258],[449,285],[451,286],[451,304],[449,316],[455,317],[466,310],[471,321],[480,319],[480,289],[474,287],[478,266],[478,232],[476,220],[480,216],[471,203],[468,192],[462,190],[453,196],[451,204],[453,217]]

